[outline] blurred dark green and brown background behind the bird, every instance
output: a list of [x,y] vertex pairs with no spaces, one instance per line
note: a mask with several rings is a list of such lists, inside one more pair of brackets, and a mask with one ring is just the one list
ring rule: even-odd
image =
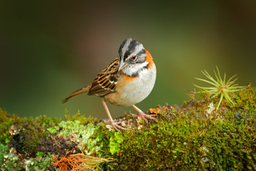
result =
[[[256,1],[1,1],[0,107],[20,116],[107,118],[100,98],[80,95],[117,57],[125,38],[149,50],[154,90],[137,106],[181,104],[201,70],[218,66],[256,85]],[[132,108],[109,105],[114,118]]]

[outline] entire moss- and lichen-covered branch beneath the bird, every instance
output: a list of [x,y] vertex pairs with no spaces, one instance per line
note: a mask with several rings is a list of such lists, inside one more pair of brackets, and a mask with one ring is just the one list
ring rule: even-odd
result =
[[183,105],[151,108],[159,120],[119,118],[115,132],[80,113],[65,120],[19,118],[0,110],[1,170],[256,170],[256,90],[202,93]]

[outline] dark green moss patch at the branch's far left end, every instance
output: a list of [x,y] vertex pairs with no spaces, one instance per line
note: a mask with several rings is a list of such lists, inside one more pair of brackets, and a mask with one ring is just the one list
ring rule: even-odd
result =
[[57,118],[41,115],[36,118],[19,118],[0,108],[0,142],[16,147],[17,152],[35,156],[50,139],[46,128],[58,123]]

